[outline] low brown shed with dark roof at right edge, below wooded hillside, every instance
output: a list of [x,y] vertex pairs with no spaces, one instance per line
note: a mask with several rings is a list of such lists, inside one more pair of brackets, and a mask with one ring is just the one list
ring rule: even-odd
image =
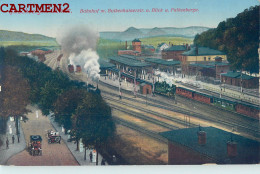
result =
[[233,86],[241,86],[243,88],[259,88],[259,78],[243,74],[241,72],[229,71],[221,74],[221,82]]

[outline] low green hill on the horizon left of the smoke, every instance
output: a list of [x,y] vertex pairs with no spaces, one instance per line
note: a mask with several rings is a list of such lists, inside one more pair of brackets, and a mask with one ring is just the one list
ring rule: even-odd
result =
[[28,41],[51,41],[56,42],[55,38],[47,37],[40,34],[28,34],[23,32],[0,30],[0,41],[18,41],[18,42],[28,42]]

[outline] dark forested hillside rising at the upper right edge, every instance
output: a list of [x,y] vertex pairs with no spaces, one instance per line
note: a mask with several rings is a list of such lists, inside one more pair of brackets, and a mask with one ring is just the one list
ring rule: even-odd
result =
[[236,70],[259,72],[259,6],[250,7],[218,27],[196,35],[194,43],[223,51]]

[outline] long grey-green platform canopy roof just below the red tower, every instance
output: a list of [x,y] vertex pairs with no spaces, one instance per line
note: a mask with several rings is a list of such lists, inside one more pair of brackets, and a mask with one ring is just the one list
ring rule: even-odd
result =
[[119,62],[119,63],[124,64],[124,65],[127,65],[127,66],[131,66],[131,67],[151,66],[150,64],[148,64],[146,62],[141,62],[139,60],[130,59],[130,58],[122,57],[122,56],[110,57],[109,59],[116,61],[116,62]]

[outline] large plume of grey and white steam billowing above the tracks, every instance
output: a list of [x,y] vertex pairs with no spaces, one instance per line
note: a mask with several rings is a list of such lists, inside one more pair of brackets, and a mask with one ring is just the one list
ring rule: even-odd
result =
[[69,56],[70,63],[80,65],[92,80],[98,80],[100,72],[96,52],[98,38],[98,32],[82,25],[62,31],[57,38],[63,53]]

